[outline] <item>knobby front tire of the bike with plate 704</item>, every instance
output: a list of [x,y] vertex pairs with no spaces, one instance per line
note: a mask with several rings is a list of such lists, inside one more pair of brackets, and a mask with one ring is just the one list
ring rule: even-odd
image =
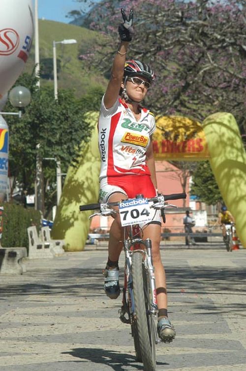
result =
[[142,253],[134,253],[132,256],[133,297],[136,313],[136,319],[134,320],[136,321],[139,348],[141,351],[144,371],[155,371],[155,342],[152,344],[153,335],[150,333],[150,328],[153,329],[153,323],[151,319],[151,327],[148,326],[149,319],[147,317],[149,317],[149,314],[146,310],[146,290],[144,290],[142,263]]

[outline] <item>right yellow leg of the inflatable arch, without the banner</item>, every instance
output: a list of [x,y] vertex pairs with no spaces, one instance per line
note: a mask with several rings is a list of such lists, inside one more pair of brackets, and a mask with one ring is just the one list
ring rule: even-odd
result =
[[204,120],[203,128],[216,182],[246,247],[246,152],[237,122],[232,114],[217,112]]

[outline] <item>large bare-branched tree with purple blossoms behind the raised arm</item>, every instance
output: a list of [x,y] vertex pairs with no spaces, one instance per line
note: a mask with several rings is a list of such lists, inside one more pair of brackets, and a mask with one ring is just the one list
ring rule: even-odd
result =
[[[78,0],[85,2],[86,0]],[[146,103],[156,114],[203,120],[231,112],[246,132],[245,0],[102,0],[85,24],[100,31],[84,52],[109,74],[119,44],[120,7],[134,8],[135,35],[127,57],[149,63],[156,79]]]

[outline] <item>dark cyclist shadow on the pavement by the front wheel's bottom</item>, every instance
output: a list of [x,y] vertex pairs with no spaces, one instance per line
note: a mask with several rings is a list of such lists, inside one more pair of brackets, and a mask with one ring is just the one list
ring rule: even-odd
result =
[[[118,353],[114,350],[100,348],[75,348],[69,352],[62,354],[70,354],[76,358],[82,358],[99,365],[108,365],[114,371],[124,371],[126,367],[134,368],[135,370],[143,370],[143,365],[136,363],[135,357],[127,353]],[[168,365],[167,363],[157,362],[157,365]]]

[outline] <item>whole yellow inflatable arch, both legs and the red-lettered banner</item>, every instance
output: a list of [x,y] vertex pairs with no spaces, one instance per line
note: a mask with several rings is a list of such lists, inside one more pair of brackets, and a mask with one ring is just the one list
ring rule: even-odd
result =
[[[91,212],[80,213],[79,205],[97,202],[99,191],[98,113],[89,113],[87,119],[94,126],[92,139],[80,154],[79,165],[68,169],[52,230],[53,238],[65,239],[69,251],[84,249]],[[210,160],[246,247],[246,152],[235,118],[215,113],[200,124],[179,116],[157,117],[153,145],[156,160]]]

